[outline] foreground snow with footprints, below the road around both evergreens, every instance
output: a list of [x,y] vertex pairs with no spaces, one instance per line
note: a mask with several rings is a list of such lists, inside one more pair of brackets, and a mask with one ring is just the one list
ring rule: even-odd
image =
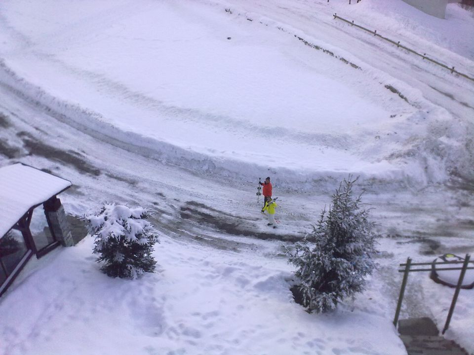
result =
[[315,317],[292,300],[282,258],[165,239],[159,272],[130,281],[102,274],[92,246],[55,252],[7,296],[4,354],[405,354],[376,290]]

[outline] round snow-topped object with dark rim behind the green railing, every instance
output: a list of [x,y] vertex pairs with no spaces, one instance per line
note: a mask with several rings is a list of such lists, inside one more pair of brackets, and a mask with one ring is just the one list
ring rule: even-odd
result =
[[[446,261],[460,261],[461,263],[457,264],[435,264],[436,262],[446,262]],[[456,287],[459,281],[459,274],[461,270],[438,270],[438,269],[445,269],[448,267],[459,267],[461,268],[462,262],[464,258],[454,254],[444,254],[437,257],[433,260],[433,264],[431,266],[431,274],[430,278],[438,284],[444,284],[449,287]],[[463,284],[461,288],[471,289],[474,287],[474,270],[466,270],[466,274],[464,275]]]

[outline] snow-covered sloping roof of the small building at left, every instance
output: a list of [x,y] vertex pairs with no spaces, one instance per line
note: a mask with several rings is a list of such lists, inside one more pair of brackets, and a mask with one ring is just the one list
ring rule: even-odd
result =
[[0,168],[0,238],[32,207],[70,186],[71,181],[20,163]]

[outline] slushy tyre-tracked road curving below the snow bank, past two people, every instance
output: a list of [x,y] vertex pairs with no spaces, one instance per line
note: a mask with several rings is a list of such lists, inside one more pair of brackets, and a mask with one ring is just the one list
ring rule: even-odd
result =
[[[214,227],[222,226],[222,222],[239,226],[234,231],[228,226],[224,230],[227,233],[245,235],[260,229],[261,222],[257,221],[262,217],[255,213],[255,186],[164,164],[154,158],[154,151],[104,137],[89,127],[73,127],[70,124],[75,121],[25,101],[11,88],[1,86],[0,90],[1,122],[5,128],[0,133],[2,156],[40,166],[73,181],[74,187],[68,193],[81,204],[72,206],[73,213],[96,208],[104,200],[140,201],[156,206],[163,213],[160,217],[172,224],[173,220],[180,220],[177,216],[183,211],[192,212],[201,206],[219,216],[218,220],[209,221]],[[330,192],[287,192],[278,190],[276,185],[276,193],[285,206],[282,226],[286,227],[281,234],[290,230],[291,234],[304,234],[314,222],[315,211],[328,203]],[[395,187],[394,191],[367,193],[365,201],[374,207],[378,218],[386,219],[381,223],[385,233],[469,236],[472,195],[470,185],[447,184],[405,192]],[[196,213],[191,213],[187,219],[194,217]],[[265,233],[261,237],[268,238]]]

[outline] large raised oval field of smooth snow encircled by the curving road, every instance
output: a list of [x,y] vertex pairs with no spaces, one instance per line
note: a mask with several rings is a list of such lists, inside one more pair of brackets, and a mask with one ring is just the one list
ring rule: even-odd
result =
[[0,53],[1,82],[81,131],[209,176],[267,171],[284,188],[349,173],[377,189],[471,175],[464,122],[272,12],[121,1],[89,13],[87,3],[54,22],[45,6],[40,28],[24,21],[34,7],[6,3],[13,48]]

